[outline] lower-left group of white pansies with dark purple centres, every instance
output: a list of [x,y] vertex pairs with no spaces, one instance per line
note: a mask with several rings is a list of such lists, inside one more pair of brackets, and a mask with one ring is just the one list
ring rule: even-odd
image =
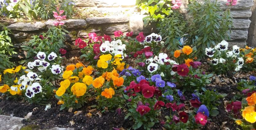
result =
[[[42,86],[38,83],[40,81],[41,79],[37,73],[30,71],[27,75],[22,75],[17,84],[20,86],[20,90],[26,89],[25,95],[27,97],[32,98],[35,94],[42,92]],[[18,91],[18,87],[11,86],[11,89],[16,92]]]

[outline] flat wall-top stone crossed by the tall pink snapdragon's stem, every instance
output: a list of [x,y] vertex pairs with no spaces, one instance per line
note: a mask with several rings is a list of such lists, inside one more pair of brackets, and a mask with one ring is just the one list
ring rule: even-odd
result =
[[[45,25],[47,28],[50,28],[53,26],[53,22],[55,20],[48,20],[45,22]],[[86,28],[87,23],[84,19],[69,19],[69,20],[63,20],[65,22],[66,28]]]

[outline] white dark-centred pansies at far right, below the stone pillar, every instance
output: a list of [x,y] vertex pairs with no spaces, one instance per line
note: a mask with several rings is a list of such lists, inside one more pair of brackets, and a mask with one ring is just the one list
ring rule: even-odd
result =
[[[213,48],[206,48],[205,49],[205,54],[209,57],[213,57],[216,51],[227,51],[227,49],[228,49],[227,47],[228,47],[228,42],[223,40],[218,45],[215,45],[214,49]],[[232,60],[235,60],[237,58],[237,55],[239,55],[239,53],[240,53],[239,49],[240,48],[237,45],[234,45],[232,51],[226,52],[227,58],[232,57]],[[242,68],[243,64],[244,64],[244,60],[243,60],[242,57],[239,57],[237,59],[238,60],[236,62],[235,71],[239,71]],[[225,63],[225,62],[226,62],[226,60],[223,59],[222,57],[220,57],[219,59],[214,58],[214,59],[211,60],[211,63],[213,65],[217,65],[218,63]]]

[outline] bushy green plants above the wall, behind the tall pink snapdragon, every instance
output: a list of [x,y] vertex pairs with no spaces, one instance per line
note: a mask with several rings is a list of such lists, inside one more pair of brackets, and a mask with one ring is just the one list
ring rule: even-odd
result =
[[35,9],[38,12],[38,16],[41,19],[52,19],[52,11],[57,11],[56,6],[59,6],[59,10],[64,10],[64,15],[67,18],[72,18],[75,11],[75,4],[73,0],[36,0]]

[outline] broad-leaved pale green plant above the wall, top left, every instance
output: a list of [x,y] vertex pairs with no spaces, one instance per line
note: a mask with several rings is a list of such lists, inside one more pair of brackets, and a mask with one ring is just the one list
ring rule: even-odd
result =
[[29,20],[32,20],[32,17],[34,19],[37,19],[37,11],[31,8],[31,6],[33,5],[33,1],[30,1],[30,3],[27,0],[23,1],[25,5],[19,4],[21,6],[21,9],[23,10],[23,13],[25,13]]

